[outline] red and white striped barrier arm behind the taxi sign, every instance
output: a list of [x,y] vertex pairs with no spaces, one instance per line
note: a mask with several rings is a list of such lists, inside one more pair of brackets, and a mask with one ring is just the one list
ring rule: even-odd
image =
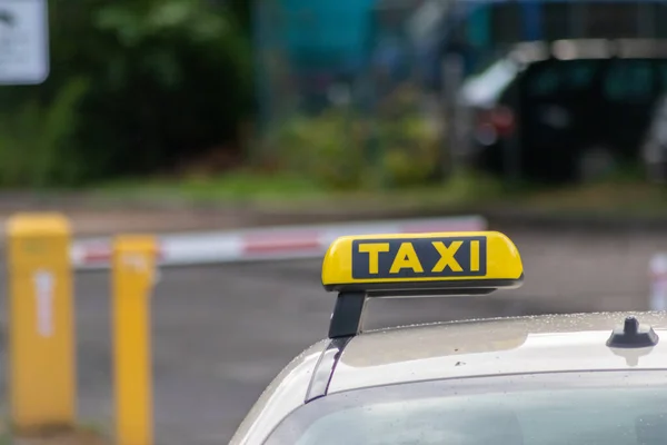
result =
[[[161,266],[317,258],[345,235],[420,234],[486,230],[478,216],[404,219],[319,226],[278,226],[249,230],[158,236]],[[71,258],[77,269],[109,267],[110,238],[76,240]]]

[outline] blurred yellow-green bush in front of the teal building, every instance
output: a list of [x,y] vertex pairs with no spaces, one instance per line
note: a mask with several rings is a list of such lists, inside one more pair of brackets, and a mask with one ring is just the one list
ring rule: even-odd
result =
[[269,139],[278,168],[312,176],[332,189],[377,189],[427,185],[434,179],[439,137],[418,115],[374,121],[330,109],[297,117]]

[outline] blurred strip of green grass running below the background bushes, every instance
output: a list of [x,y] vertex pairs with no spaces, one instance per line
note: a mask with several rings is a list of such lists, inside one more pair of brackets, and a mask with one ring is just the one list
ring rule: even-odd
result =
[[667,187],[634,177],[586,186],[508,189],[461,174],[447,184],[396,190],[329,190],[306,178],[235,172],[213,178],[125,180],[89,190],[96,198],[225,206],[265,210],[526,210],[542,214],[667,216]]

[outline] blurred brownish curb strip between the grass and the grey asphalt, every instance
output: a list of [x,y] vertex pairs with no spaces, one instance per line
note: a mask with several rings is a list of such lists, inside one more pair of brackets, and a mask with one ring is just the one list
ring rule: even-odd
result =
[[[30,195],[29,195],[30,196]],[[17,198],[18,199],[18,198]],[[82,198],[81,198],[82,199]],[[499,230],[605,230],[605,231],[667,231],[667,212],[655,215],[624,215],[619,211],[575,211],[547,210],[516,207],[499,202],[479,206],[399,206],[394,208],[374,208],[374,206],[332,205],[325,208],[286,209],[262,208],[252,205],[211,206],[211,205],[159,205],[156,202],[127,202],[98,205],[88,208],[82,201],[71,199],[50,202],[48,199],[32,198],[22,205],[18,200],[7,202],[0,194],[0,226],[3,219],[17,211],[32,211],[36,206],[42,210],[63,211],[70,217],[76,234],[84,237],[101,237],[120,231],[148,231],[169,234],[178,231],[205,231],[238,229],[239,227],[266,228],[272,226],[365,222],[368,220],[390,220],[404,218],[450,218],[460,215],[480,215],[488,220],[489,227]],[[38,202],[38,204],[36,204]],[[62,204],[60,207],[58,204]],[[131,215],[128,220],[113,214]],[[82,215],[81,215],[82,214]],[[138,218],[137,214],[146,214]],[[189,215],[183,218],[182,215]],[[91,215],[93,216],[91,218]],[[109,218],[106,217],[109,216]],[[178,216],[178,217],[177,217]],[[109,219],[109,220],[107,220]],[[123,228],[125,227],[125,228]],[[0,240],[2,244],[2,240]]]

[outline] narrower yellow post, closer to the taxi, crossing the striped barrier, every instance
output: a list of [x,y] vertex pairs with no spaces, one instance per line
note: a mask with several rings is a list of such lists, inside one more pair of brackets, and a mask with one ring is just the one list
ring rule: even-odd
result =
[[152,445],[150,296],[157,241],[126,235],[113,244],[113,362],[119,445]]

